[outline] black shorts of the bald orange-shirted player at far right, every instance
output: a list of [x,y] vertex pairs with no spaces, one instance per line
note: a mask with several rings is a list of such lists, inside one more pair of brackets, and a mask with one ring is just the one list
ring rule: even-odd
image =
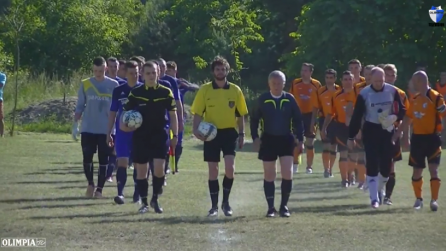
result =
[[414,168],[425,168],[428,164],[440,164],[441,137],[438,134],[412,134],[409,165]]

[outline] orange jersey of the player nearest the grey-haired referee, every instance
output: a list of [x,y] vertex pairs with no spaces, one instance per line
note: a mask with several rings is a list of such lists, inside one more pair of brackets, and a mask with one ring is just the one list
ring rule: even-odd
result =
[[312,113],[311,94],[317,92],[322,85],[312,78],[310,83],[304,83],[301,78],[294,79],[291,84],[290,93],[296,98],[301,113]]

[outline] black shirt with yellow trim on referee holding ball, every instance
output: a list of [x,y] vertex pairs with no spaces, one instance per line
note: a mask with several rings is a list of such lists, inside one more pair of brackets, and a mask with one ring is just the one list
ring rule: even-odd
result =
[[143,124],[137,131],[164,130],[169,118],[169,111],[176,111],[176,102],[172,91],[156,84],[154,87],[142,85],[134,88],[124,105],[124,111],[136,110],[143,116]]

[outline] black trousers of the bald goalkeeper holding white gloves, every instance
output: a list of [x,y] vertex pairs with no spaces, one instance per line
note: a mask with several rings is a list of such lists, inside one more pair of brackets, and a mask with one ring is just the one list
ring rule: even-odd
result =
[[381,124],[364,123],[362,128],[362,141],[366,153],[367,176],[389,177],[393,162],[392,136],[394,132],[382,129]]

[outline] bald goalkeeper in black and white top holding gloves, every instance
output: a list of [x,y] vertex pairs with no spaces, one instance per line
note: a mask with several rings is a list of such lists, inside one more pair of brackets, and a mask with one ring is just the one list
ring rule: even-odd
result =
[[394,123],[401,121],[406,107],[398,90],[384,82],[384,70],[372,69],[371,85],[359,93],[349,126],[348,147],[355,147],[355,136],[361,129],[364,152],[366,152],[367,183],[372,208],[382,203],[383,191],[389,180],[393,156],[392,137]]

